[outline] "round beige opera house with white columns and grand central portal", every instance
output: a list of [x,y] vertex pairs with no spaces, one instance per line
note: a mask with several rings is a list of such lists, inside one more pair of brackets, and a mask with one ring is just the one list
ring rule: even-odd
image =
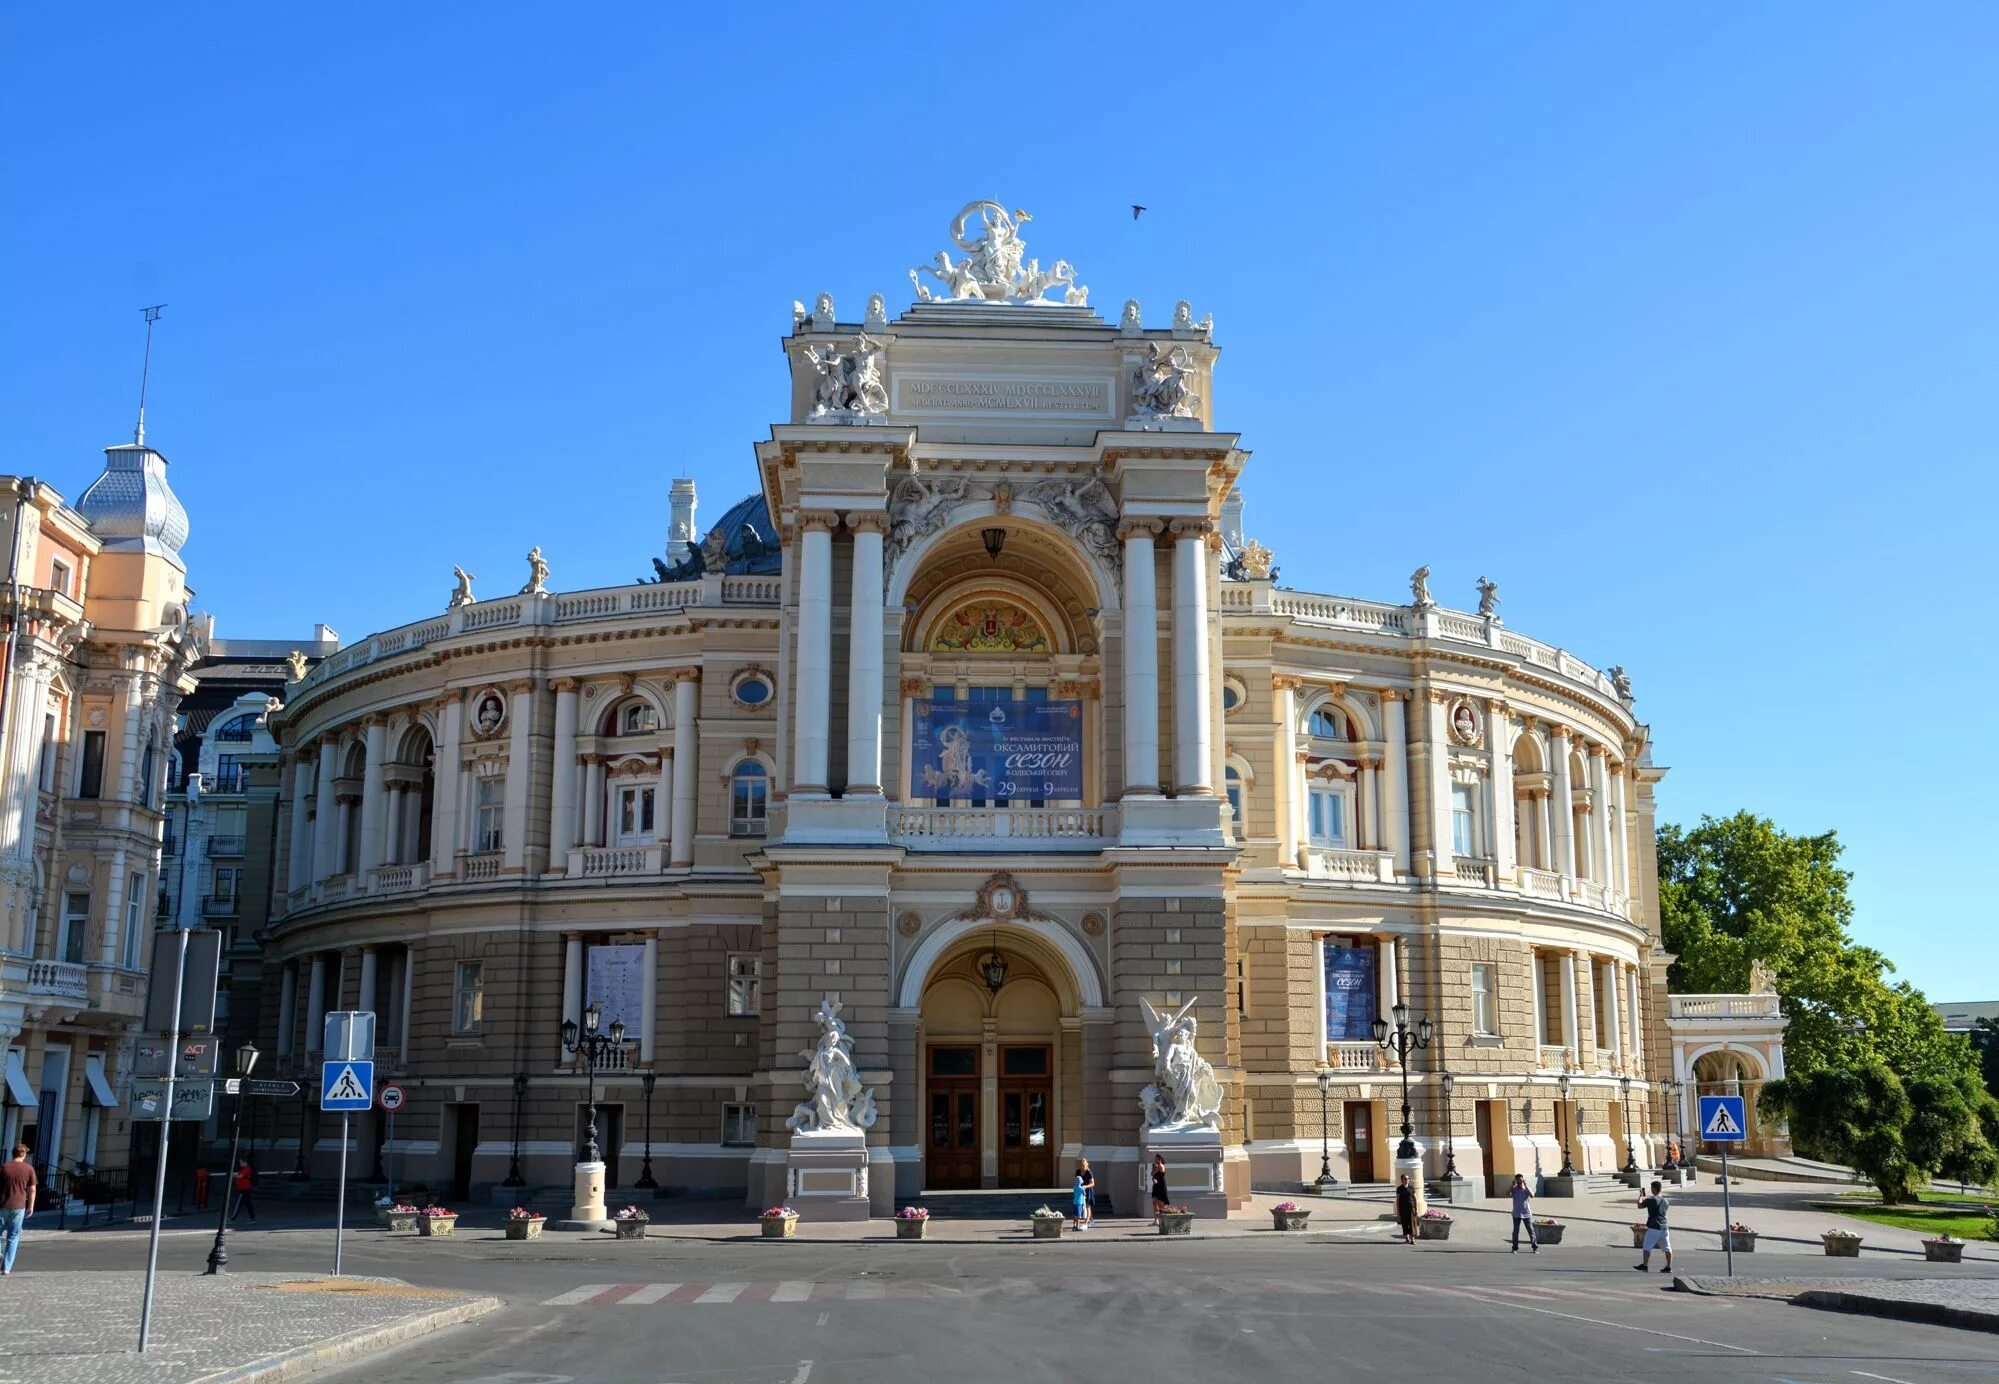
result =
[[[954,292],[1027,272],[982,216]],[[1619,670],[1515,634],[1493,588],[1437,604],[1427,568],[1407,602],[1277,588],[1185,304],[1161,328],[876,298],[854,324],[822,296],[784,352],[756,494],[660,582],[462,590],[270,718],[262,1042],[304,1068],[328,1008],[376,1010],[404,1176],[464,1196],[518,1156],[566,1188],[586,1078],[560,1026],[600,1000],[626,1024],[610,1182],[650,1138],[662,1184],[780,1200],[828,996],[878,1210],[1061,1186],[1083,1154],[1133,1206],[1141,1000],[1191,1004],[1207,1190],[1237,1204],[1317,1176],[1321,1130],[1341,1180],[1391,1176],[1371,1024],[1397,1002],[1435,1022],[1409,1070],[1431,1174],[1447,1136],[1467,1176],[1563,1142],[1657,1160],[1665,770]],[[674,512],[692,540],[678,484]],[[1475,542],[1445,510],[1409,532],[1411,558]],[[1033,742],[996,758],[1001,724]],[[336,1128],[308,1134],[322,1172]]]

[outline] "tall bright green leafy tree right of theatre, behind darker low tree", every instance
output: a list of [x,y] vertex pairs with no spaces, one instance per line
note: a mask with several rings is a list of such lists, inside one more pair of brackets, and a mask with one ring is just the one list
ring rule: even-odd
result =
[[1677,954],[1667,984],[1739,992],[1763,962],[1791,1020],[1783,1050],[1797,1074],[1869,1062],[1905,1080],[1975,1072],[1971,1046],[1943,1032],[1921,990],[1891,984],[1889,960],[1853,940],[1839,850],[1835,832],[1791,836],[1753,812],[1661,826],[1659,928]]

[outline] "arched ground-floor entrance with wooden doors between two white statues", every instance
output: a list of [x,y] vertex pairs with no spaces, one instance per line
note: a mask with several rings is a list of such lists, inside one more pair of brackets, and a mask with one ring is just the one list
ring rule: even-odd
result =
[[[966,926],[922,972],[926,1188],[1055,1188],[1081,1146],[1081,992],[1043,926]],[[984,968],[996,948],[998,990]]]

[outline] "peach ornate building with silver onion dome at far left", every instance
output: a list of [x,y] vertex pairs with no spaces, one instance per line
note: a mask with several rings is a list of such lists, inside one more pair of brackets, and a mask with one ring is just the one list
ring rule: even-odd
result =
[[34,478],[0,486],[0,1142],[44,1170],[118,1170],[168,744],[200,642],[188,516],[144,444],[108,448],[76,508]]

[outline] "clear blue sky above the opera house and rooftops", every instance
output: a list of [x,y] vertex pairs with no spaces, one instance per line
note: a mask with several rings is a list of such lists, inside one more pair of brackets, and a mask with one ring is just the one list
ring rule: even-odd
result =
[[76,496],[166,302],[222,634],[530,544],[628,582],[670,476],[754,488],[792,300],[900,308],[996,196],[1215,314],[1287,584],[1491,574],[1631,670],[1667,818],[1837,828],[1861,938],[1999,998],[1993,54],[1989,4],[12,6],[0,468]]

